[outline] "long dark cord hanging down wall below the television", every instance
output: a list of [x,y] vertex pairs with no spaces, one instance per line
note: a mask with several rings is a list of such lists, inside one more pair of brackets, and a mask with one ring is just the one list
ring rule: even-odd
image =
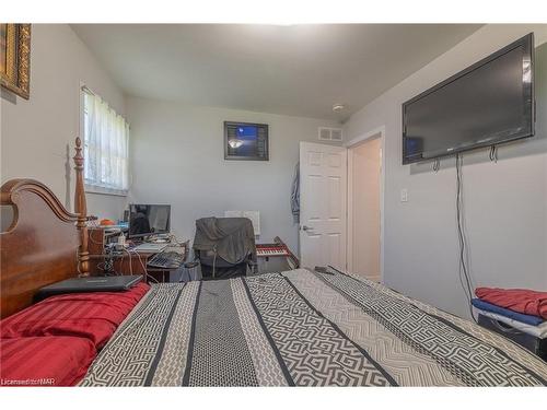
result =
[[[475,323],[478,324],[475,318],[475,313],[473,312],[473,281],[467,269],[466,256],[467,256],[467,244],[465,241],[465,232],[463,224],[463,178],[462,178],[462,165],[463,165],[463,155],[456,154],[456,222],[457,222],[457,238],[459,243],[459,283],[462,284],[462,289],[464,290],[472,318]],[[462,278],[463,274],[463,278]]]

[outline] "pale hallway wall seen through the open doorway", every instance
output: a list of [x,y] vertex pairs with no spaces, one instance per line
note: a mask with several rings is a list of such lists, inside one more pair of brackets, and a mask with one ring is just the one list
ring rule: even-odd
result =
[[380,174],[382,140],[350,149],[352,184],[352,272],[380,280]]

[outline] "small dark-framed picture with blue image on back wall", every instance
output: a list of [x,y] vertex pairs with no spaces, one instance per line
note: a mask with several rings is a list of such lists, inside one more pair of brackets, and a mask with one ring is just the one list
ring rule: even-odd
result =
[[224,160],[268,161],[268,125],[224,121]]

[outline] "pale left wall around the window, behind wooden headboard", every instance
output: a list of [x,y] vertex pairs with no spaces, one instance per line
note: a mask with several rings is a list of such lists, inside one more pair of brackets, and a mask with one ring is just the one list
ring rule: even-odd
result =
[[[31,98],[0,98],[1,180],[34,178],[72,209],[74,139],[80,134],[80,82],[124,114],[124,95],[67,24],[33,24]],[[70,159],[70,160],[69,160]],[[124,197],[88,194],[88,211],[119,218]]]

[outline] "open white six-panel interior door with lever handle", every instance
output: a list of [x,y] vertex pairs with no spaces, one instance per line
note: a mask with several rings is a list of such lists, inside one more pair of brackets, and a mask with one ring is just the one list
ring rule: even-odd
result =
[[300,143],[302,266],[346,269],[347,162],[344,147]]

